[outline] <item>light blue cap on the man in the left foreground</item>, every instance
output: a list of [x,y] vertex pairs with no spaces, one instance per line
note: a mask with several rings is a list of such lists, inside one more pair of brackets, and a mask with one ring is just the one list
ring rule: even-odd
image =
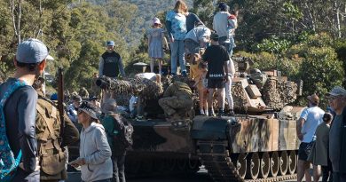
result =
[[20,43],[16,53],[16,59],[21,63],[39,63],[47,56],[47,46],[35,38]]

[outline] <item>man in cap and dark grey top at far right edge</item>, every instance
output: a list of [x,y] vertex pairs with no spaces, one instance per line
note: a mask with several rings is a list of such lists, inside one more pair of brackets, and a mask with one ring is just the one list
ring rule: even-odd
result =
[[335,117],[329,131],[329,158],[333,167],[333,181],[346,182],[346,90],[340,86],[327,93]]

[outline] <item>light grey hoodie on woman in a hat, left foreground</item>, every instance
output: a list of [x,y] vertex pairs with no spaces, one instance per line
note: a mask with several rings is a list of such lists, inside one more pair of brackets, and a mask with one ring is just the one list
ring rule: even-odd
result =
[[106,138],[105,128],[91,123],[81,131],[80,158],[85,164],[81,167],[82,180],[85,182],[112,178],[112,151]]

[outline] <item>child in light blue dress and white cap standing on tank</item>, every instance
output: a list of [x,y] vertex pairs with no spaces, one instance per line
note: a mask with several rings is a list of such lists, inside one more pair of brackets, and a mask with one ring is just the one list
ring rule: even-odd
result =
[[153,73],[153,66],[155,60],[159,63],[159,74],[161,74],[162,59],[164,56],[163,46],[168,47],[167,40],[164,36],[164,29],[161,28],[162,24],[158,18],[153,18],[152,28],[148,31],[148,53],[150,62],[150,71]]

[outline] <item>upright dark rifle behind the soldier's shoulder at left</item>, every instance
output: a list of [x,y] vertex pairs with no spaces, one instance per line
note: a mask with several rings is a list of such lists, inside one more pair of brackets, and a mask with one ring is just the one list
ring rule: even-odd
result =
[[[58,110],[60,117],[60,138],[64,136],[65,121],[64,121],[64,73],[63,68],[58,69]],[[62,141],[61,141],[62,143]]]

